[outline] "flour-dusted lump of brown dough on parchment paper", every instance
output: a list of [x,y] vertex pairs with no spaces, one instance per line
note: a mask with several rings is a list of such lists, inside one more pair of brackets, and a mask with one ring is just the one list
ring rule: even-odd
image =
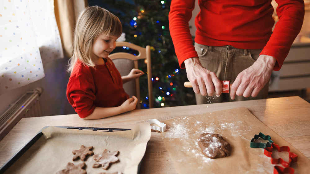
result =
[[198,145],[208,158],[215,159],[230,155],[230,144],[219,134],[201,134],[198,138]]

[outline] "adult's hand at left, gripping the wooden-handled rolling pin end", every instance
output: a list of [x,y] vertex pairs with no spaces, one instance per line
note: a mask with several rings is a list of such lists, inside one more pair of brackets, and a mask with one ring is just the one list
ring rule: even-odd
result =
[[192,84],[193,90],[196,94],[213,96],[215,89],[215,95],[217,97],[221,95],[223,91],[221,81],[217,78],[214,72],[201,66],[198,57],[186,59],[184,65],[187,78]]

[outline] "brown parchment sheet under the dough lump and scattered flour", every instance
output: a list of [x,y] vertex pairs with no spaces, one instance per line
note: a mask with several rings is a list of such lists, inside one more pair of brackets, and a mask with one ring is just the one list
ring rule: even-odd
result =
[[[310,160],[259,121],[247,108],[178,117],[164,123],[167,125],[167,130],[162,133],[163,141],[175,169],[180,174],[273,173],[275,165],[271,164],[270,158],[263,154],[264,149],[250,148],[251,139],[259,132],[270,135],[279,146],[289,146],[290,151],[298,155],[297,163],[291,166],[295,169],[295,174],[310,171]],[[230,143],[231,155],[217,159],[210,159],[203,155],[197,139],[205,132],[220,134]],[[273,155],[276,154],[274,151]],[[281,155],[273,157],[283,157],[288,160],[288,152],[281,152]]]

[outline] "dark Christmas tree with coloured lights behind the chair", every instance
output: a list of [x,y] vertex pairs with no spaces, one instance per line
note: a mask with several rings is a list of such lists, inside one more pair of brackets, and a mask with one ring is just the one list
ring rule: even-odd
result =
[[[174,45],[169,32],[169,0],[89,0],[89,6],[98,5],[120,19],[126,42],[141,47],[151,46],[153,99],[148,98],[147,76],[140,77],[141,108],[148,108],[148,100],[154,107],[170,107],[196,104],[193,89],[185,88],[186,70],[179,68]],[[116,48],[113,52],[136,54],[129,48]],[[139,69],[146,72],[146,63],[139,61]]]

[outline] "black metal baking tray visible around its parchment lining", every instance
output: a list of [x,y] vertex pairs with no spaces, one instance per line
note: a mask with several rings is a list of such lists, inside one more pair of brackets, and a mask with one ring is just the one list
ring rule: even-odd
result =
[[[23,148],[20,149],[20,151],[18,151],[11,159],[9,159],[7,161],[7,163],[5,163],[1,169],[0,169],[0,173],[4,173],[12,164],[15,163],[15,161],[17,161],[35,142],[38,141],[38,139],[43,135],[42,130],[47,128],[49,126],[45,126],[43,127],[38,134],[36,134]],[[64,129],[78,129],[78,130],[83,130],[83,129],[93,129],[93,131],[101,131],[101,130],[106,130],[103,132],[113,132],[113,131],[126,131],[126,130],[131,130],[131,129],[121,129],[121,128],[98,128],[98,127],[72,127],[72,126],[55,126],[55,127],[59,127],[59,128],[64,128]],[[142,158],[143,159],[143,158]],[[140,167],[141,167],[141,162],[142,159],[138,165],[138,173],[140,171]]]

